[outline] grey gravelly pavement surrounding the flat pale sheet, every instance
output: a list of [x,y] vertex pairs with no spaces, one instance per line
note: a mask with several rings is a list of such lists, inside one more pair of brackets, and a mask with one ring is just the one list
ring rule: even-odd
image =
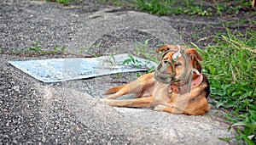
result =
[[[9,60],[132,53],[135,44],[183,44],[175,20],[85,1],[63,7],[44,1],[0,3],[0,144],[227,144],[236,131],[212,109],[203,116],[167,114],[152,109],[113,108],[102,92],[135,73],[87,80],[43,83],[15,69]],[[183,20],[186,21],[186,20]],[[189,24],[214,24],[214,21]],[[176,24],[177,21],[176,21]],[[15,54],[35,42],[47,51],[66,47],[70,55]],[[88,48],[101,44],[100,47]],[[151,52],[151,51],[148,51]],[[79,53],[79,56],[81,53]]]

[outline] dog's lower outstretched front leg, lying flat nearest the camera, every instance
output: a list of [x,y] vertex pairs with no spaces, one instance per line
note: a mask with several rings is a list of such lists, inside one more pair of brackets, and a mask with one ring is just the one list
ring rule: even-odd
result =
[[125,99],[125,100],[102,98],[101,101],[113,107],[147,108],[147,107],[154,106],[154,104],[152,103],[153,97],[133,98],[133,99]]

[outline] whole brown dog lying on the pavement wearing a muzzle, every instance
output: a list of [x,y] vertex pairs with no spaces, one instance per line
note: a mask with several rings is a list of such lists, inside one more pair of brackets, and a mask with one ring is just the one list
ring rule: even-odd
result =
[[[201,75],[201,56],[195,48],[164,45],[156,49],[163,52],[154,73],[140,76],[123,86],[106,91],[112,95],[102,98],[110,106],[147,108],[172,114],[205,114],[211,107],[207,96],[210,86]],[[137,98],[118,100],[122,95],[134,93]]]

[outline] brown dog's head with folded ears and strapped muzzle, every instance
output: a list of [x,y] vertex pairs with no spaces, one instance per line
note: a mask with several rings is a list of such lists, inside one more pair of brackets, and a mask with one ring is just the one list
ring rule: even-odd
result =
[[196,71],[193,73],[193,77],[196,77],[196,73],[201,73],[201,64],[198,60],[202,60],[202,58],[195,48],[187,49],[184,46],[166,44],[155,51],[163,53],[154,74],[157,81],[166,84],[186,83],[193,71]]

